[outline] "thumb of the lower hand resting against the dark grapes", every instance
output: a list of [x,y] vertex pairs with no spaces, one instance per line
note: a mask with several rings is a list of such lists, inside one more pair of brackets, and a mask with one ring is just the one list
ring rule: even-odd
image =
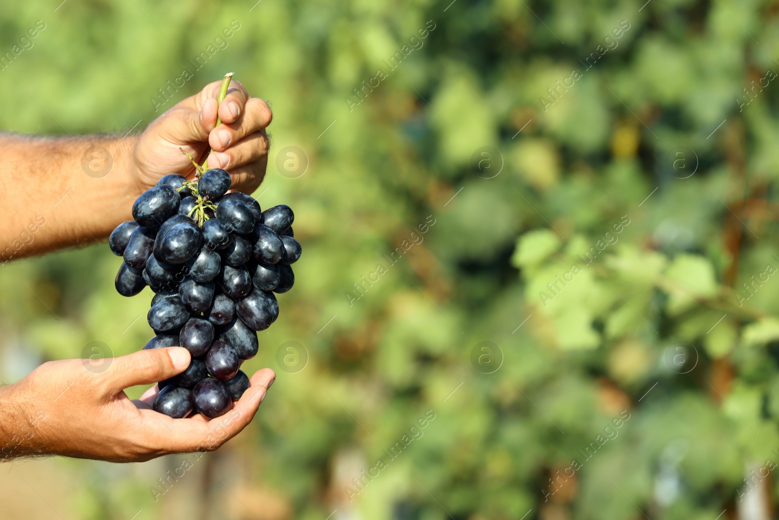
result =
[[122,391],[136,384],[152,384],[182,373],[191,356],[183,347],[150,348],[114,359],[103,374],[111,391]]

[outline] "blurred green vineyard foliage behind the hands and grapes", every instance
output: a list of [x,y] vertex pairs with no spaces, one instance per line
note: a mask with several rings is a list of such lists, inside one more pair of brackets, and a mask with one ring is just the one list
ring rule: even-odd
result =
[[[0,129],[139,132],[234,70],[304,255],[241,436],[2,465],[0,517],[772,518],[777,2],[59,2],[0,9]],[[2,264],[2,380],[141,348],[118,265]]]

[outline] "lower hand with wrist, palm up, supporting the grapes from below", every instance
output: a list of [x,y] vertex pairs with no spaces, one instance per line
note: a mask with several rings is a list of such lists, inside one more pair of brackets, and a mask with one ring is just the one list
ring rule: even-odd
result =
[[263,369],[233,409],[216,419],[171,419],[150,409],[157,385],[137,401],[124,392],[173,377],[189,366],[185,348],[142,350],[95,372],[83,359],[44,363],[0,388],[0,461],[26,455],[64,455],[142,462],[187,451],[211,451],[252,420],[276,374]]

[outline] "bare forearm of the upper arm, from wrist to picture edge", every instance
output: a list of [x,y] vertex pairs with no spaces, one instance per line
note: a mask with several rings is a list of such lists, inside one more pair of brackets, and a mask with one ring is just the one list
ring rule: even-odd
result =
[[135,143],[136,137],[0,136],[0,263],[104,239],[131,220],[139,195]]

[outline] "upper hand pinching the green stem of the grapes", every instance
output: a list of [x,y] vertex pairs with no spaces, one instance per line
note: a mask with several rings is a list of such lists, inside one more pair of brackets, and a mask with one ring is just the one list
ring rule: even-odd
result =
[[133,152],[133,188],[136,193],[157,184],[169,173],[192,179],[195,168],[181,150],[203,162],[209,148],[209,168],[223,168],[232,176],[231,189],[252,193],[263,182],[269,141],[265,128],[273,119],[268,105],[250,97],[238,81],[218,105],[220,81],[206,85],[155,119],[139,136]]

